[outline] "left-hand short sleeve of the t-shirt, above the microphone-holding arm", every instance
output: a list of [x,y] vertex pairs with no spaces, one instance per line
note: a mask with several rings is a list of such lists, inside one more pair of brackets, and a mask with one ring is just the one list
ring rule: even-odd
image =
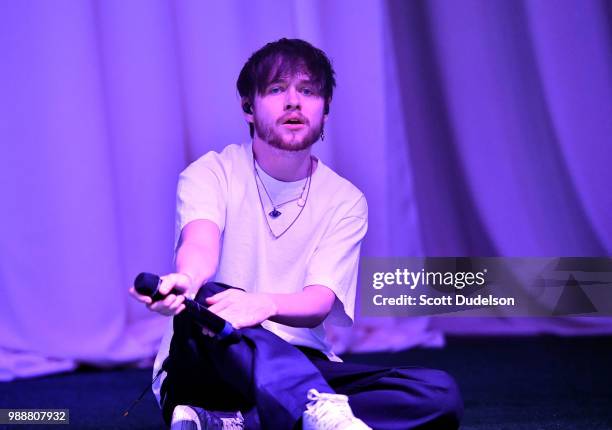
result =
[[228,177],[227,167],[214,152],[196,160],[180,174],[176,192],[175,249],[183,227],[191,221],[212,221],[223,232]]

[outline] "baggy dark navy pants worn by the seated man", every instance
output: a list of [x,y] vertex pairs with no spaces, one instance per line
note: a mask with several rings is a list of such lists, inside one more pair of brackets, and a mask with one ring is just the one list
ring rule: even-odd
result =
[[[196,296],[205,299],[229,288],[209,282]],[[378,429],[456,429],[463,403],[452,377],[419,367],[386,368],[329,361],[320,351],[295,347],[257,326],[241,329],[229,344],[202,334],[188,315],[174,317],[174,335],[161,387],[169,424],[176,405],[236,411],[245,428],[299,428],[306,394],[345,394],[356,417]]]

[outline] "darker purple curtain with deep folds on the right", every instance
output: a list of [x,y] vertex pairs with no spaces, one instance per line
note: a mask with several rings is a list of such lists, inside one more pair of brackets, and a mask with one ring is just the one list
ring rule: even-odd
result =
[[[611,3],[388,6],[423,255],[611,255]],[[431,326],[581,334],[610,332],[611,322]]]

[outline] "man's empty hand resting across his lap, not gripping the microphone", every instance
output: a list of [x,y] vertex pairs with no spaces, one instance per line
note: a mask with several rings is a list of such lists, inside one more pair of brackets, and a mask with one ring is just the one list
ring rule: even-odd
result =
[[239,329],[260,324],[276,315],[276,303],[268,294],[245,293],[230,288],[206,299],[209,311]]

